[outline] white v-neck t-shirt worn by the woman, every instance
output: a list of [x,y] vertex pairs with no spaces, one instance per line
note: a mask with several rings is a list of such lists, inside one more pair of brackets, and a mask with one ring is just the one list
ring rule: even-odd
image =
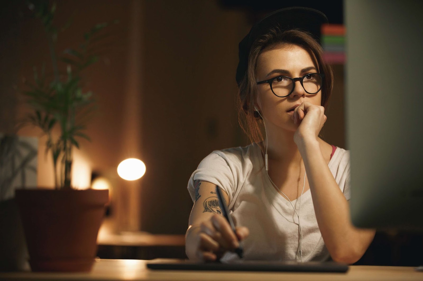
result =
[[[188,191],[195,202],[194,181],[202,180],[216,184],[228,194],[233,222],[250,230],[242,242],[244,259],[299,261],[297,215],[288,200],[273,187],[262,166],[261,150],[256,143],[213,151],[192,173]],[[349,151],[337,147],[328,167],[349,200]],[[298,212],[299,198],[291,202]],[[321,237],[310,190],[301,196],[299,216],[302,261],[326,261],[330,254]],[[226,252],[221,260],[237,258],[235,253]]]

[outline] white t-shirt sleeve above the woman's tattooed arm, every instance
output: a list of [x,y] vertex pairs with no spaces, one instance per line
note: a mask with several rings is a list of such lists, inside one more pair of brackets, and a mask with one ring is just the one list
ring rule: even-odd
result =
[[192,202],[195,202],[194,181],[196,180],[209,181],[212,184],[216,184],[228,194],[229,202],[232,201],[235,190],[233,171],[228,164],[228,159],[224,159],[222,157],[224,155],[219,154],[219,152],[213,151],[206,156],[198,165],[197,170],[192,173],[188,181],[188,192],[190,192]]

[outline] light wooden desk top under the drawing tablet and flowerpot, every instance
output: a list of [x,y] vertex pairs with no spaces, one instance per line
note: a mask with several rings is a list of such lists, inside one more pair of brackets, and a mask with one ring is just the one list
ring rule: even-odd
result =
[[390,266],[350,266],[347,273],[290,273],[290,272],[236,272],[236,271],[180,271],[180,270],[149,270],[146,260],[130,259],[99,259],[90,273],[0,273],[0,280],[140,280],[140,281],[256,281],[256,280],[383,280],[409,281],[423,280],[423,272],[415,271],[414,267]]

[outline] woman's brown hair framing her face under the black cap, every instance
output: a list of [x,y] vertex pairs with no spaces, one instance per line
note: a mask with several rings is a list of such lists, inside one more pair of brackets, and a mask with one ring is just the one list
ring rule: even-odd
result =
[[264,154],[263,135],[258,122],[261,117],[254,111],[254,103],[257,98],[257,84],[255,69],[260,54],[264,49],[279,44],[294,44],[302,47],[310,54],[317,65],[320,73],[324,73],[324,82],[321,89],[321,106],[327,109],[333,88],[332,68],[323,60],[323,49],[320,44],[308,32],[301,30],[281,31],[279,27],[273,27],[264,35],[257,38],[250,49],[248,67],[244,78],[239,84],[237,97],[238,122],[242,130],[247,134],[250,141],[258,143]]

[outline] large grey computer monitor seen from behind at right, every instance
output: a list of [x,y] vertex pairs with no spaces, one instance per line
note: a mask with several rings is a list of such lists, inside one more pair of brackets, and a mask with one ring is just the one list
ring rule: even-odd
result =
[[423,230],[423,1],[345,0],[352,222]]

